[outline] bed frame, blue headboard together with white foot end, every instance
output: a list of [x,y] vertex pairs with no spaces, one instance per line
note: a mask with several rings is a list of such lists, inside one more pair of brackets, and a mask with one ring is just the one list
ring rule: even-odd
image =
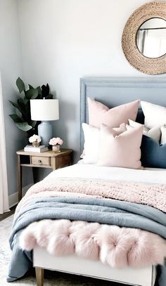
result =
[[[80,80],[80,95],[81,126],[82,122],[88,122],[87,97],[95,98],[110,108],[136,99],[166,106],[166,80],[163,77],[89,77]],[[81,150],[83,143],[84,138],[82,128],[80,128]],[[34,248],[33,265],[36,270],[37,286],[44,285],[44,269],[138,286],[154,286],[156,277],[154,266],[147,268],[110,268],[103,265],[101,261],[80,259],[75,255],[52,256],[41,247]]]

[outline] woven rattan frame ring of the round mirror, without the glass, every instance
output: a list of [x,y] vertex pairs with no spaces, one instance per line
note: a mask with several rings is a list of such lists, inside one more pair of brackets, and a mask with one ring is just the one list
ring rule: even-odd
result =
[[149,2],[132,13],[122,33],[122,50],[128,62],[136,70],[146,74],[163,74],[166,72],[166,54],[159,58],[146,58],[136,45],[139,27],[151,18],[166,20],[166,2]]

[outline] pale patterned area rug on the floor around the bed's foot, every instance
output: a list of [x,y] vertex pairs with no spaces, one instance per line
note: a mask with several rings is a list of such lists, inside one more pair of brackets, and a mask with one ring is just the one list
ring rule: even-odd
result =
[[[11,231],[13,215],[8,216],[0,222],[0,285],[1,286],[32,286],[37,285],[34,270],[27,273],[25,278],[15,282],[6,282],[8,264],[11,259],[11,249],[8,244],[8,237]],[[58,273],[56,271],[45,271],[44,286],[121,286],[119,283],[111,283],[104,280],[97,280],[77,275]]]

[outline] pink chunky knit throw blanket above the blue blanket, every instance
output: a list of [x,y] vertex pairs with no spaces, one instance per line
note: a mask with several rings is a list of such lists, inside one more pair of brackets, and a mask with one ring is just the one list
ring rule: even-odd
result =
[[46,178],[32,186],[18,204],[17,212],[36,197],[100,197],[146,204],[166,212],[166,185],[78,178]]

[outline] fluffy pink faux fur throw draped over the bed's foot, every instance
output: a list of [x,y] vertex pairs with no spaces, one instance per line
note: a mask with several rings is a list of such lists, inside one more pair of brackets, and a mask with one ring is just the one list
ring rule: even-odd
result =
[[100,259],[110,267],[163,264],[166,242],[146,230],[119,226],[44,219],[31,223],[20,235],[20,247],[30,251],[45,247],[53,255]]

